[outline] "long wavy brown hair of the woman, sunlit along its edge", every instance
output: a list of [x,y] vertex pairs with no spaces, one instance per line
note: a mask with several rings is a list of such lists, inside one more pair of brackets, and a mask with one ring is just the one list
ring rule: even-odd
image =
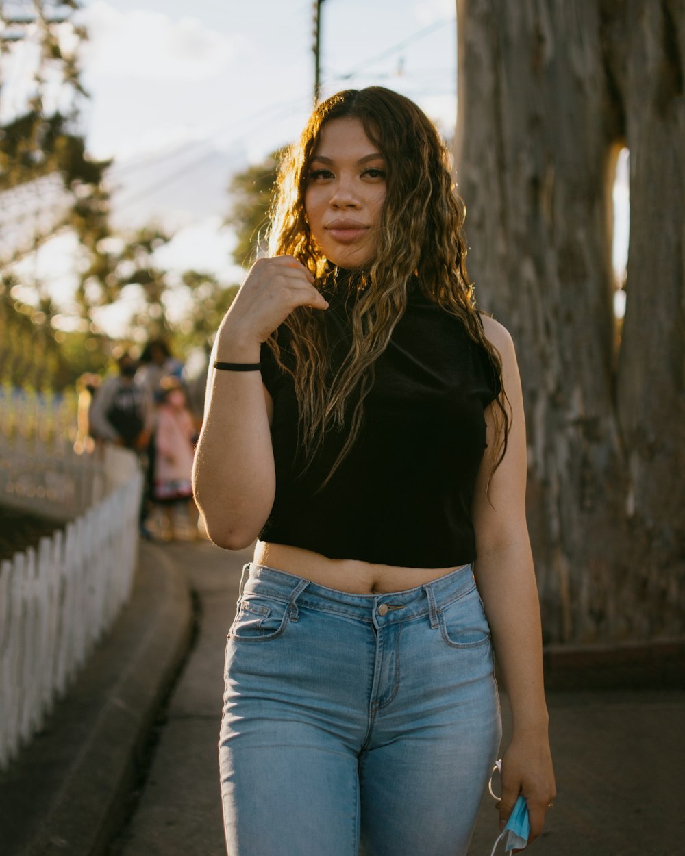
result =
[[[279,366],[294,377],[301,445],[307,459],[319,449],[327,431],[347,425],[343,449],[324,484],[359,435],[374,364],[407,308],[408,283],[414,275],[418,275],[424,296],[459,318],[474,342],[485,349],[493,379],[499,378],[503,390],[502,360],[483,332],[468,280],[463,235],[466,208],[455,193],[450,153],[426,114],[408,98],[382,86],[369,86],[338,92],[316,107],[300,140],[280,163],[271,206],[270,255],[295,256],[317,277],[319,289],[325,288],[331,265],[313,239],[304,198],[321,129],[326,122],[342,118],[361,122],[387,164],[375,257],[368,270],[355,272],[359,296],[350,317],[351,347],[327,383],[329,351],[320,312],[301,306],[284,322],[291,334],[294,367],[283,362],[277,334],[267,340]],[[496,401],[499,455],[490,478],[503,460],[509,433],[504,391]]]

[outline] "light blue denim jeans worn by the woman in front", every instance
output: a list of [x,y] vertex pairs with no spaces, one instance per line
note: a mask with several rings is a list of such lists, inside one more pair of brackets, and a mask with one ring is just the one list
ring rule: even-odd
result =
[[246,565],[225,687],[229,856],[466,853],[501,737],[471,565],[382,595]]

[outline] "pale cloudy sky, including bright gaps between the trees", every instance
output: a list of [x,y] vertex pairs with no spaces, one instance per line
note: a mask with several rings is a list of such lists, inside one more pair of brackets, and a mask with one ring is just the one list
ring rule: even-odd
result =
[[[90,93],[81,130],[93,157],[114,158],[115,226],[161,223],[176,231],[161,265],[240,282],[223,225],[226,189],[235,171],[295,140],[307,121],[312,0],[83,0],[77,15],[89,32],[80,51]],[[455,0],[324,0],[321,78],[324,97],[372,84],[403,92],[450,137]],[[65,305],[73,258],[74,238],[63,235],[26,263]],[[136,300],[129,289],[119,306],[99,312],[98,324],[119,335]]]

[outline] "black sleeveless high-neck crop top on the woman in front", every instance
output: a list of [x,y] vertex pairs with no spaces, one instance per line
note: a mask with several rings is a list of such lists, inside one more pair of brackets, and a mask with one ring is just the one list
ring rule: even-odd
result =
[[[343,447],[329,431],[307,461],[298,444],[292,377],[264,346],[262,378],[274,402],[276,498],[260,540],[407,568],[450,568],[475,559],[471,504],[485,451],[485,407],[499,394],[484,348],[462,322],[410,283],[408,307],[375,364],[360,434],[321,488]],[[335,369],[351,332],[344,288],[326,294],[327,341]],[[292,360],[289,330],[278,332]]]

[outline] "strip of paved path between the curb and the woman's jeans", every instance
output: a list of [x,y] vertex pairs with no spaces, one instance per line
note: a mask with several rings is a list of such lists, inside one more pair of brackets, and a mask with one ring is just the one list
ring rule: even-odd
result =
[[207,542],[165,550],[200,599],[200,633],[170,699],[138,811],[111,856],[225,856],[217,767],[223,653],[251,556]]

